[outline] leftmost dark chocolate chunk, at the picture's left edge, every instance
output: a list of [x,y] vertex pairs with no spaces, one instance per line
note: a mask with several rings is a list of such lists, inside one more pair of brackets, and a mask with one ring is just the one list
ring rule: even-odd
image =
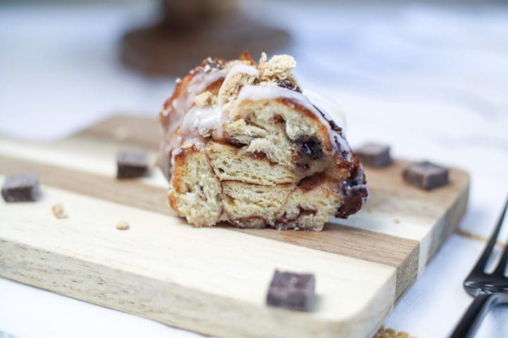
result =
[[39,175],[37,173],[7,176],[1,189],[2,197],[6,202],[35,201],[39,192]]

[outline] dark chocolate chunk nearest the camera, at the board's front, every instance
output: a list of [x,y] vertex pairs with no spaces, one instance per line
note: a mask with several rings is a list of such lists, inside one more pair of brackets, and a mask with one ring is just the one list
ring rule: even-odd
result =
[[311,311],[315,303],[315,277],[275,270],[267,294],[267,305],[296,311]]

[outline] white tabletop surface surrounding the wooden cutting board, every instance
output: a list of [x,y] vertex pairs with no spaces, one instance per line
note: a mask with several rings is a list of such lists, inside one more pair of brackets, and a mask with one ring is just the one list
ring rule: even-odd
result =
[[[149,20],[150,6],[1,4],[0,132],[47,139],[114,113],[155,115],[174,79],[118,62],[121,33]],[[471,302],[461,283],[484,246],[464,234],[488,237],[508,193],[508,6],[270,2],[249,11],[291,32],[284,52],[298,61],[301,84],[339,102],[353,146],[386,142],[395,157],[471,173],[459,232],[385,323],[445,337]],[[492,311],[477,337],[507,337],[507,315]],[[0,331],[200,337],[1,278]]]

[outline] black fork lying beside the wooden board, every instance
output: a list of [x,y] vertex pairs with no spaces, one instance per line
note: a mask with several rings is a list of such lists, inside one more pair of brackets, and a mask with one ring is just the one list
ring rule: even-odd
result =
[[500,262],[494,272],[485,273],[485,267],[499,236],[507,208],[508,200],[504,204],[499,222],[489,239],[485,251],[483,251],[475,267],[464,280],[464,289],[475,299],[462,316],[460,323],[455,327],[455,331],[450,336],[451,338],[473,337],[481,320],[492,306],[508,303],[508,277],[504,276],[508,262],[508,244],[504,247]]

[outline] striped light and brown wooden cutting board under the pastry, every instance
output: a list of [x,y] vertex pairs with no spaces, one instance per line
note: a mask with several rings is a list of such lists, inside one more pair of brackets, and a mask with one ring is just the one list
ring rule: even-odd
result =
[[[217,337],[368,337],[466,210],[469,177],[424,192],[397,161],[367,168],[370,200],[323,232],[193,228],[167,206],[154,168],[118,181],[116,151],[149,149],[151,119],[116,116],[50,143],[0,138],[0,182],[40,173],[42,199],[0,204],[0,275]],[[61,203],[68,218],[56,219]],[[116,230],[126,220],[131,228]],[[265,306],[275,269],[314,273],[313,313]]]

